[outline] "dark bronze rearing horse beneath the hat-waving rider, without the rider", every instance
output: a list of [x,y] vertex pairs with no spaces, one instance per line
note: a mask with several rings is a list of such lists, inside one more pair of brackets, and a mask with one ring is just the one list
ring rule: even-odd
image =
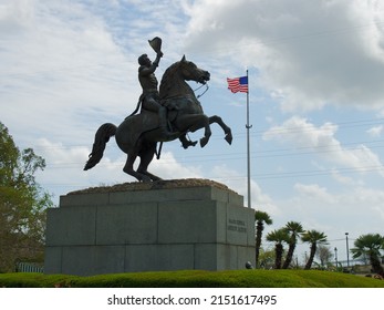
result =
[[[195,96],[193,89],[186,81],[196,81],[206,84],[209,81],[208,71],[199,69],[195,63],[187,61],[185,56],[172,64],[164,73],[159,95],[160,102],[173,110],[168,111],[170,131],[175,133],[172,140],[185,138],[188,132],[204,128],[200,146],[204,147],[211,135],[210,124],[217,123],[225,133],[228,144],[232,142],[231,130],[222,122],[221,117],[214,115],[208,117]],[[156,113],[142,110],[141,114],[126,117],[117,127],[114,124],[103,124],[95,134],[92,153],[85,164],[84,170],[94,167],[103,157],[106,143],[111,136],[115,136],[118,147],[127,154],[127,161],[123,170],[139,182],[159,180],[147,168],[151,164],[158,142],[166,142],[159,128]],[[137,170],[134,163],[141,158]]]

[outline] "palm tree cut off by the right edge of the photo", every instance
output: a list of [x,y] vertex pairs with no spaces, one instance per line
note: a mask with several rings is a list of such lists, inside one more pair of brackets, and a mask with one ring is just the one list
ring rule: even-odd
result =
[[381,250],[384,250],[384,237],[378,234],[367,234],[360,236],[354,241],[355,248],[351,249],[353,258],[367,256],[371,261],[373,272],[384,277],[384,269],[381,265]]

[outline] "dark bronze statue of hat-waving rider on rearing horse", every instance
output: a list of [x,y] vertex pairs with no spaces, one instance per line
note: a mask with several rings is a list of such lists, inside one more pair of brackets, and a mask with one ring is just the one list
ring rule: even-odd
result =
[[[209,125],[217,123],[225,133],[225,140],[231,144],[230,127],[217,115],[210,117],[205,115],[193,89],[185,82],[196,81],[206,84],[210,78],[208,71],[199,69],[195,63],[183,56],[180,61],[172,64],[165,71],[157,92],[157,80],[154,72],[159,59],[163,56],[159,49],[160,42],[159,38],[149,41],[149,44],[157,52],[156,60],[153,63],[145,54],[139,59],[141,68],[138,72],[143,94],[135,112],[117,127],[114,124],[106,123],[97,130],[92,153],[84,170],[91,169],[101,161],[111,136],[115,136],[118,147],[127,154],[123,170],[139,182],[160,179],[147,170],[156,153],[158,142],[163,143],[179,138],[183,146],[187,148],[196,143],[188,141],[186,134],[204,128],[204,137],[200,138],[200,146],[204,147],[211,135]],[[144,78],[141,78],[143,72]],[[139,105],[142,105],[142,111],[139,114],[135,114]],[[166,107],[166,110],[163,107]],[[137,170],[135,170],[134,163],[137,156],[141,158],[141,163]]]

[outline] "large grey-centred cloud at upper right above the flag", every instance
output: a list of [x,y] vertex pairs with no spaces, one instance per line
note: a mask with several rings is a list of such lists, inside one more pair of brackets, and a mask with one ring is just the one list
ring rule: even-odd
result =
[[189,46],[256,66],[284,111],[384,106],[382,1],[200,0],[187,13]]

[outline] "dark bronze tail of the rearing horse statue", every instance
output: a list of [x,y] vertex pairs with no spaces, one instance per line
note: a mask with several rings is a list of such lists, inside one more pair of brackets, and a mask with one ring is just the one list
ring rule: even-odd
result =
[[106,143],[110,141],[110,137],[115,135],[116,130],[117,127],[111,123],[105,123],[100,126],[95,134],[95,142],[93,143],[92,152],[85,164],[84,170],[91,169],[98,164],[103,157]]

